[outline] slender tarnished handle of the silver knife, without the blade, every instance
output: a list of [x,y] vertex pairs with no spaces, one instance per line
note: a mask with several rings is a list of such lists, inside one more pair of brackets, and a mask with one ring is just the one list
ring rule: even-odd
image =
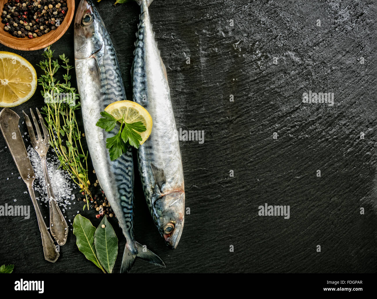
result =
[[31,197],[31,201],[33,202],[33,205],[34,205],[35,214],[37,214],[39,231],[41,232],[41,238],[42,238],[44,259],[51,263],[55,263],[59,257],[59,252],[56,249],[54,241],[52,241],[52,238],[47,230],[46,224],[43,221],[41,211],[39,210],[37,200],[35,199],[34,189],[32,187],[32,184],[28,184],[28,190]]

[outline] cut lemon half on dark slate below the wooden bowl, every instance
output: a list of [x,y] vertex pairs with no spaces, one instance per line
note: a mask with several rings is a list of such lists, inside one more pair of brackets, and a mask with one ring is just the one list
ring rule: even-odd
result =
[[14,107],[26,102],[37,88],[37,73],[25,58],[0,52],[0,107]]

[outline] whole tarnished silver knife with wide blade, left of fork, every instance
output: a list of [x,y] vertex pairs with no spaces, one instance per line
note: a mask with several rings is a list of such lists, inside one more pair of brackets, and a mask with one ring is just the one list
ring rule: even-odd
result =
[[31,166],[28,152],[26,152],[20,129],[18,128],[18,120],[20,120],[20,117],[11,109],[4,108],[2,112],[0,112],[0,129],[3,133],[6,144],[8,144],[8,148],[11,151],[18,172],[20,173],[20,176],[25,182],[26,186],[28,186],[35,213],[37,214],[44,258],[46,261],[55,263],[59,257],[59,252],[56,249],[54,241],[52,241],[52,238],[47,230],[46,224],[44,223],[41,215],[41,211],[39,210],[37,200],[35,199],[33,189],[35,179],[34,170]]

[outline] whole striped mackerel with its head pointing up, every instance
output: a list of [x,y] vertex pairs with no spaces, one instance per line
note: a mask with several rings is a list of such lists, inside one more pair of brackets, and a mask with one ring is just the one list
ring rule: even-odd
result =
[[[121,72],[109,33],[90,0],[81,0],[75,18],[75,68],[87,145],[100,186],[126,237],[121,272],[128,272],[136,257],[165,267],[162,260],[133,237],[132,150],[110,161],[105,132],[96,126],[107,105],[126,100]],[[118,127],[119,130],[119,127]]]

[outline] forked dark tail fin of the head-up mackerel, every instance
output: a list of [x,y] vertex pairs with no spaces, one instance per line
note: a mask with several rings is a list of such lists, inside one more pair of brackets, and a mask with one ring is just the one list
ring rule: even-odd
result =
[[138,247],[138,250],[135,250],[136,253],[131,252],[127,244],[126,244],[126,247],[124,247],[120,273],[124,273],[124,272],[128,273],[131,270],[133,264],[135,264],[136,258],[140,258],[141,260],[147,261],[148,263],[151,263],[155,266],[166,268],[164,262],[161,260],[161,258],[158,257],[158,255],[156,255],[149,249],[143,247],[143,245],[141,245],[140,243],[136,241],[135,241],[135,245]]

